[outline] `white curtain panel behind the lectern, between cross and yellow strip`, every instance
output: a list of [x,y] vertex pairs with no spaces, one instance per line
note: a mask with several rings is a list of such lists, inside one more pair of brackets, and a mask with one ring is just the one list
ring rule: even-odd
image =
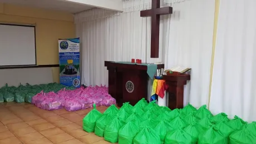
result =
[[208,105],[215,1],[184,1],[174,3],[173,9],[165,67],[192,68],[191,81],[184,86],[184,105]]

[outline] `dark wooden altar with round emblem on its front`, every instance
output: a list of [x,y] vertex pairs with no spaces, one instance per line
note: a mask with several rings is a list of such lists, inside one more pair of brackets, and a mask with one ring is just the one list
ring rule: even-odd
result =
[[[124,102],[135,105],[142,98],[147,99],[147,66],[140,64],[122,64],[105,61],[109,70],[109,94],[117,101],[118,106]],[[157,65],[157,69],[164,64]]]

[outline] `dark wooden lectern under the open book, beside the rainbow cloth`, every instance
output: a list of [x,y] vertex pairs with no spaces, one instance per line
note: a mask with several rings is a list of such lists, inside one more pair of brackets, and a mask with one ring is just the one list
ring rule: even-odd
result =
[[164,75],[163,79],[168,85],[167,92],[169,93],[169,104],[168,107],[173,109],[183,108],[184,100],[184,85],[186,81],[190,80],[190,75],[188,74],[173,74],[173,75]]

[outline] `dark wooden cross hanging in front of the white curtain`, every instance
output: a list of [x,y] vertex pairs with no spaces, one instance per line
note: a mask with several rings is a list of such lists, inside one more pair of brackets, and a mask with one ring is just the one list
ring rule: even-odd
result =
[[160,0],[152,0],[152,9],[140,11],[140,17],[151,17],[151,58],[159,58],[160,15],[173,13],[172,7],[160,8]]

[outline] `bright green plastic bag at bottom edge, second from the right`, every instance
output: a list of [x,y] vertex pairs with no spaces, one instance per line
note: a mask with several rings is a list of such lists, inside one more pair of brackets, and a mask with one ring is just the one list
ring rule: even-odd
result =
[[228,144],[225,138],[215,126],[210,127],[207,131],[201,133],[198,137],[198,144]]

